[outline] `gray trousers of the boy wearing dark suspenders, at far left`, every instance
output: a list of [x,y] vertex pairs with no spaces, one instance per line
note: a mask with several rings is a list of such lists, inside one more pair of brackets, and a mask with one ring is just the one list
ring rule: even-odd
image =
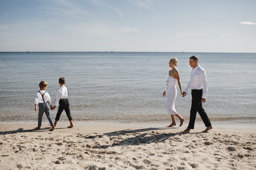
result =
[[54,126],[52,116],[50,114],[49,103],[48,102],[39,103],[38,107],[39,107],[39,109],[38,109],[38,126],[42,126],[42,117],[43,117],[44,113],[47,116],[47,119],[49,120],[51,126]]

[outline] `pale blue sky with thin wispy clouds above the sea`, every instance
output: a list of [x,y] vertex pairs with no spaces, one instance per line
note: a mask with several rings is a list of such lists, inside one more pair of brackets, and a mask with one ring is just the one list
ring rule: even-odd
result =
[[256,53],[256,0],[0,0],[0,51]]

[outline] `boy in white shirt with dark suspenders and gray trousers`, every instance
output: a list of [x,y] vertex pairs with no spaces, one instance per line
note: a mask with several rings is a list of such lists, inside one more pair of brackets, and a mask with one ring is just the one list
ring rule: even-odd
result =
[[37,111],[37,104],[39,107],[39,109],[38,109],[38,126],[35,128],[36,130],[41,129],[43,113],[45,113],[45,115],[47,116],[47,119],[49,120],[49,122],[52,126],[50,131],[55,129],[55,126],[54,126],[54,123],[52,120],[52,116],[50,114],[50,108],[52,108],[51,97],[45,91],[47,86],[48,86],[47,82],[41,81],[39,83],[40,91],[37,91],[36,95],[35,95],[35,102],[34,102],[35,103],[35,111]]

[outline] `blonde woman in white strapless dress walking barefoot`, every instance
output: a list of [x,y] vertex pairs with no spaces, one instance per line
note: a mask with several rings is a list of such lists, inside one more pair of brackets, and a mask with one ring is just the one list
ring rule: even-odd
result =
[[175,110],[175,99],[177,97],[177,89],[176,89],[176,84],[178,82],[179,88],[180,88],[180,93],[182,94],[182,87],[180,85],[180,73],[177,70],[176,66],[178,65],[178,60],[177,58],[173,57],[169,61],[169,67],[171,67],[171,70],[169,71],[169,76],[166,80],[166,88],[163,93],[163,96],[167,96],[167,113],[168,115],[171,115],[172,123],[167,126],[167,127],[172,127],[176,126],[175,122],[175,116],[177,116],[180,119],[180,126],[182,126],[184,122],[184,118],[177,113]]

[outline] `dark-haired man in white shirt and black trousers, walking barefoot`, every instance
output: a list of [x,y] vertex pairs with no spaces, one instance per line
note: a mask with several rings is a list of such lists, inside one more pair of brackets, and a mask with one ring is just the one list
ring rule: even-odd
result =
[[201,116],[205,127],[207,127],[202,132],[207,132],[213,127],[211,126],[209,117],[207,116],[204,108],[202,107],[202,103],[206,101],[206,96],[208,92],[206,73],[204,68],[200,67],[200,65],[198,64],[198,56],[196,55],[193,55],[189,58],[189,65],[192,67],[190,81],[182,92],[182,97],[186,96],[188,89],[191,88],[192,104],[190,109],[189,126],[188,128],[186,128],[186,130],[184,130],[184,132],[189,132],[190,129],[194,129],[195,117],[197,112]]

